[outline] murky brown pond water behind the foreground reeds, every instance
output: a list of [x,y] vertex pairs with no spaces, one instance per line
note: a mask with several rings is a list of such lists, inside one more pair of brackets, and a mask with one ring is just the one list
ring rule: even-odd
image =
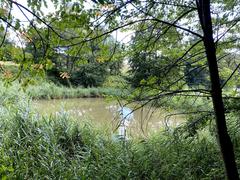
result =
[[33,106],[41,115],[57,115],[64,111],[79,121],[87,119],[94,126],[111,131],[117,130],[121,117],[125,117],[129,120],[129,135],[148,135],[166,128],[166,125],[176,127],[183,121],[181,116],[172,116],[166,121],[165,117],[169,112],[160,108],[145,106],[132,112],[136,104],[121,108],[118,102],[109,102],[103,98],[36,100]]

